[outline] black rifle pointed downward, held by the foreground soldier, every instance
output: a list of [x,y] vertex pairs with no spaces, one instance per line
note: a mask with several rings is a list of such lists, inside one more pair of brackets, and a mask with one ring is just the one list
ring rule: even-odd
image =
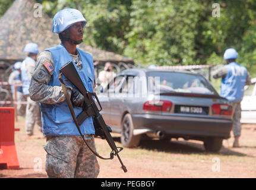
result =
[[[116,147],[115,141],[113,140],[113,138],[112,138],[112,136],[111,136],[111,134],[108,130],[108,126],[106,126],[102,115],[99,113],[99,109],[97,108],[97,105],[93,100],[92,94],[89,91],[86,90],[86,87],[84,87],[83,81],[81,80],[80,76],[78,75],[77,69],[75,69],[74,64],[70,61],[67,64],[65,64],[64,66],[62,66],[62,68],[59,69],[59,71],[61,71],[62,74],[64,74],[65,77],[69,81],[71,81],[71,83],[74,84],[75,87],[77,87],[77,89],[80,91],[80,93],[83,94],[85,105],[87,106],[88,110],[90,110],[90,112],[92,112],[92,115],[94,116],[94,119],[97,122],[97,124],[99,124],[99,126],[103,129],[106,141],[108,142],[110,148],[112,149],[112,152],[110,153],[110,157],[111,156],[113,157],[114,155],[117,156],[119,162],[122,165],[122,167],[121,167],[122,170],[124,170],[124,172],[127,172],[126,167],[124,166],[124,164],[122,163],[121,158],[118,155],[118,153],[123,148]],[[96,96],[96,94],[93,94],[93,95]],[[96,96],[96,99],[97,99],[97,96]],[[100,105],[100,102],[99,102],[98,99],[97,99],[97,101]],[[82,113],[80,115],[83,115]],[[81,122],[84,121],[81,118],[83,118],[83,116],[81,116],[80,119],[78,119],[78,121],[80,121],[80,122],[78,122],[78,123],[80,123],[79,125],[81,125]],[[120,148],[120,150],[118,150],[118,148]]]

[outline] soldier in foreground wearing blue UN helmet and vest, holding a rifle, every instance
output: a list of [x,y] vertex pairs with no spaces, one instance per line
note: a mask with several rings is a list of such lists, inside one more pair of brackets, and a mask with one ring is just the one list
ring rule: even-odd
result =
[[[45,170],[49,178],[96,178],[99,174],[96,156],[81,138],[58,80],[59,69],[72,61],[87,90],[93,92],[93,58],[77,48],[83,41],[86,23],[77,9],[62,9],[55,14],[52,31],[58,33],[61,44],[40,53],[30,83],[31,99],[40,102],[43,135],[47,141]],[[84,96],[69,81],[66,82],[78,115],[82,112]],[[93,119],[87,118],[80,130],[95,151]]]

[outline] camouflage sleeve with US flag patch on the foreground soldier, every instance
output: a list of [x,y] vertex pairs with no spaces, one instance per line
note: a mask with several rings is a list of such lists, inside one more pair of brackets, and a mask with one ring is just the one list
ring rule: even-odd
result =
[[[52,53],[43,51],[37,58],[36,68],[34,69],[30,81],[30,98],[40,103],[55,104],[65,100],[64,92],[59,86],[50,86],[48,83],[52,80],[53,71],[49,72],[43,65],[46,61],[50,62],[54,68]],[[68,94],[71,90],[68,88]]]

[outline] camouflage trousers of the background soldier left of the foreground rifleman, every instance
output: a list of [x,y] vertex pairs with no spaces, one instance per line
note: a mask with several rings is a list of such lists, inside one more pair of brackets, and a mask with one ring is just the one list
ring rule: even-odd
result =
[[27,107],[26,107],[26,122],[25,129],[27,135],[33,135],[34,125],[37,124],[37,128],[42,132],[42,120],[40,107],[38,102],[34,102],[27,97]]

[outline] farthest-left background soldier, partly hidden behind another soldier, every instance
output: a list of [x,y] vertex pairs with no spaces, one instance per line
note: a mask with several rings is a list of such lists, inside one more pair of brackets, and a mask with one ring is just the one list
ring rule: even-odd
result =
[[[15,91],[14,91],[14,85],[15,83],[22,83],[21,81],[21,62],[15,62],[14,64],[14,71],[11,72],[9,76],[8,83],[12,84],[11,85],[11,92],[12,92],[12,99],[15,100]],[[26,99],[23,96],[22,93],[22,87],[17,88],[17,101],[18,102],[24,102]],[[18,115],[20,116],[25,116],[26,113],[26,105],[17,105],[17,112]]]

